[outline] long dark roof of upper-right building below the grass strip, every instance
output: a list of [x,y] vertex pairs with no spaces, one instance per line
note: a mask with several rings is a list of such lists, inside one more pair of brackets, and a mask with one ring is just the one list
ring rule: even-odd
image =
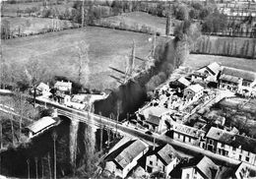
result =
[[234,68],[230,68],[230,67],[224,67],[222,74],[241,78],[241,79],[247,80],[247,81],[255,80],[255,73],[248,72],[245,70],[240,70],[240,69],[234,69]]

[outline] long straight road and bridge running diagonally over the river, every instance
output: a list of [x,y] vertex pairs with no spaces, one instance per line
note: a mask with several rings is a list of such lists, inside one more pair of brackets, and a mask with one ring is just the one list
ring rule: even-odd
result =
[[[227,162],[230,164],[239,164],[240,161],[226,157],[221,154],[214,153],[209,150],[201,149],[196,146],[191,146],[182,142],[178,142],[175,140],[170,139],[169,137],[166,137],[165,135],[159,135],[154,133],[153,135],[147,135],[145,132],[146,130],[136,128],[130,125],[122,124],[118,121],[112,120],[110,118],[104,117],[97,115],[92,112],[88,111],[80,111],[77,109],[73,109],[70,107],[66,107],[64,105],[58,104],[56,102],[52,102],[49,100],[43,100],[43,99],[36,99],[36,103],[40,105],[46,105],[48,107],[53,107],[57,109],[57,113],[59,116],[66,116],[70,120],[76,120],[78,122],[86,123],[90,126],[95,126],[96,128],[108,128],[111,130],[115,130],[116,132],[124,135],[124,136],[131,136],[139,139],[143,139],[147,142],[154,143],[154,141],[159,144],[169,144],[173,146],[177,150],[181,151],[188,151],[189,153],[194,153],[194,154],[204,154],[207,155],[208,157],[211,157],[213,159],[222,161],[222,162]],[[247,163],[249,168],[252,168],[256,170],[256,166]]]

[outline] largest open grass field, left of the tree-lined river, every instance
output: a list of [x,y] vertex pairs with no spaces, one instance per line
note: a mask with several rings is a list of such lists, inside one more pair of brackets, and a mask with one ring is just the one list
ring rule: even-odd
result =
[[[83,72],[83,85],[91,89],[113,89],[119,84],[109,75],[120,77],[120,74],[108,67],[125,70],[124,55],[131,53],[132,39],[136,43],[136,56],[147,56],[152,45],[149,37],[138,32],[88,27],[3,40],[2,48],[3,57],[9,63],[19,66],[33,57],[43,61],[51,75],[77,80],[79,62],[75,46],[83,40],[90,45],[90,72]],[[136,64],[141,61],[137,60]]]

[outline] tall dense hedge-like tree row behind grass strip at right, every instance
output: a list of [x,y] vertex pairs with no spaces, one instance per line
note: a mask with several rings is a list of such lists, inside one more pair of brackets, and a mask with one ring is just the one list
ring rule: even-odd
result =
[[256,39],[246,37],[201,36],[192,53],[256,59]]

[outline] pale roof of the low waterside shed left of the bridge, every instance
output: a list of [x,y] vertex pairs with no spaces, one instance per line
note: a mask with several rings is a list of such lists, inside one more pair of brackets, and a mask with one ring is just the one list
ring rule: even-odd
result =
[[53,118],[47,116],[35,121],[27,128],[31,130],[33,133],[37,133],[42,129],[51,126],[54,123],[56,123],[56,121]]

